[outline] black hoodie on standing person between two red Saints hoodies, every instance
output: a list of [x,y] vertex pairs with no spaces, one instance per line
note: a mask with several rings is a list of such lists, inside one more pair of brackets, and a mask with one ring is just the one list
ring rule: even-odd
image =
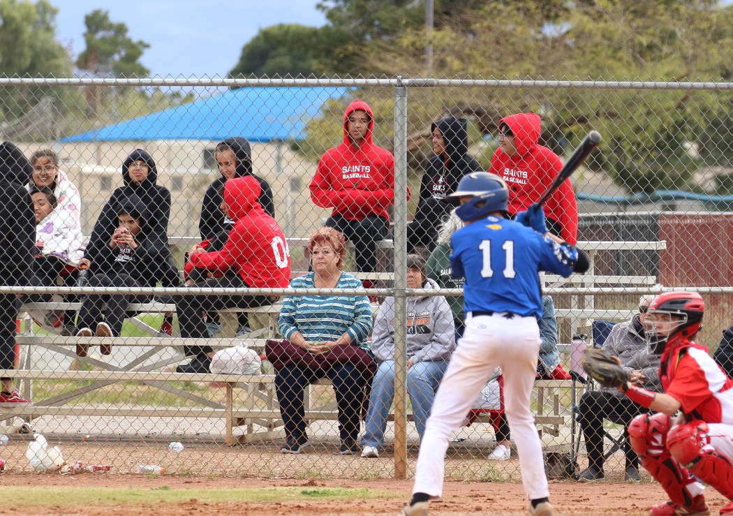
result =
[[445,197],[455,191],[460,178],[468,172],[482,170],[479,162],[468,155],[468,130],[464,118],[446,117],[432,122],[430,134],[435,128],[441,131],[446,144],[448,162],[442,155],[433,157],[425,167],[420,185],[415,218],[437,225],[455,204]]

